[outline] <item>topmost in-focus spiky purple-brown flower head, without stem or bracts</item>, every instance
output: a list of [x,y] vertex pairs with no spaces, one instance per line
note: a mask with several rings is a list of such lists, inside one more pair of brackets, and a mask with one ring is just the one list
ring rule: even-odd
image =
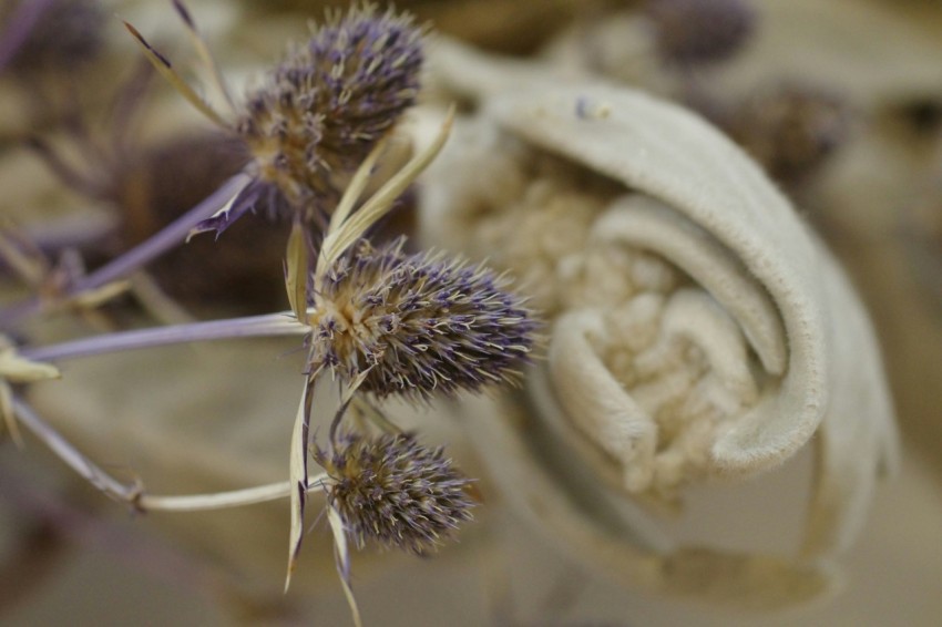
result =
[[408,14],[352,9],[318,28],[249,95],[235,130],[258,181],[277,191],[276,212],[321,209],[416,102],[422,37]]

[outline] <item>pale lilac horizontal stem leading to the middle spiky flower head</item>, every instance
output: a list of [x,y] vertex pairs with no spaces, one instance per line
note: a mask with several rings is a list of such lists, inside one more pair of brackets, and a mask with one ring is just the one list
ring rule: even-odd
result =
[[172,327],[105,333],[47,347],[23,348],[19,352],[25,359],[49,362],[175,343],[232,338],[300,336],[309,331],[310,327],[298,322],[289,312],[266,314],[246,318],[208,320]]

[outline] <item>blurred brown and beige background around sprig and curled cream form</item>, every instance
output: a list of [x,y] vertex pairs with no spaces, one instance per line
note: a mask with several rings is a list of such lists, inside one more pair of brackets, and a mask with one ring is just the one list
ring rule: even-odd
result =
[[[257,84],[252,81],[286,41],[305,39],[308,20],[347,3],[191,4],[224,73],[244,89]],[[493,502],[460,544],[430,559],[358,555],[355,585],[367,624],[938,625],[942,3],[401,0],[397,7],[437,33],[495,53],[678,101],[739,143],[840,257],[867,302],[904,455],[848,556],[844,590],[813,607],[733,615],[626,590],[566,563]],[[94,267],[141,241],[242,165],[227,140],[152,76],[119,18],[191,70],[195,54],[171,2],[0,0],[0,230],[4,241],[28,239],[53,259],[43,280],[76,264]],[[401,218],[408,228],[408,206]],[[197,238],[155,264],[132,297],[95,315],[30,322],[23,332],[54,341],[141,323],[149,319],[144,309],[172,320],[285,308],[285,237],[281,226],[249,216],[218,243]],[[29,289],[9,267],[0,277],[4,302]],[[153,492],[278,481],[300,392],[300,358],[291,349],[265,340],[75,362],[61,382],[35,386],[30,399],[92,459],[146,480]],[[429,439],[449,442],[469,474],[483,473],[451,408],[416,413],[395,411],[406,424],[420,422]],[[784,515],[784,504],[801,502],[809,458],[695,504],[697,531],[774,546],[793,539],[800,513]],[[483,486],[487,493],[487,477]],[[749,513],[730,516],[744,502]],[[306,542],[301,577],[283,596],[286,537],[285,503],[132,515],[39,442],[27,439],[19,449],[4,438],[0,445],[6,625],[348,624],[324,524]]]

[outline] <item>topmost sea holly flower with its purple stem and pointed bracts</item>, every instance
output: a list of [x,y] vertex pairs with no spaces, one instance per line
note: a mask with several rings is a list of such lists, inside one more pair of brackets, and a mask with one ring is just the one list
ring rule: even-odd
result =
[[[268,75],[265,86],[238,104],[192,16],[181,0],[174,0],[174,7],[216,91],[227,103],[227,114],[204,100],[133,25],[125,22],[125,27],[161,75],[208,120],[243,142],[250,156],[248,165],[158,234],[70,286],[62,298],[125,277],[187,236],[203,232],[218,236],[256,206],[293,220],[288,291],[293,296],[306,294],[300,281],[308,268],[297,263],[309,259],[301,250],[311,248],[308,223],[327,227],[327,216],[334,213],[339,191],[347,187],[352,171],[377,153],[383,137],[414,102],[424,30],[410,17],[392,10],[380,12],[369,3],[356,6],[315,28],[310,41],[290,52]],[[379,155],[373,156],[371,164]],[[414,163],[427,165],[433,156],[423,155]],[[408,181],[416,175],[413,169]],[[392,197],[403,189],[397,187]],[[301,320],[305,299],[293,300],[293,310]],[[10,328],[43,307],[40,299],[32,298],[7,308],[0,311],[0,327]]]

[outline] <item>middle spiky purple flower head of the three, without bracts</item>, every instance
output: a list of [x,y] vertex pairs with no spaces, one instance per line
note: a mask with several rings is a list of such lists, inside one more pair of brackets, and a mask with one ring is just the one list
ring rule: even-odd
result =
[[314,289],[314,367],[377,397],[427,399],[514,382],[536,322],[502,276],[442,254],[361,240]]

